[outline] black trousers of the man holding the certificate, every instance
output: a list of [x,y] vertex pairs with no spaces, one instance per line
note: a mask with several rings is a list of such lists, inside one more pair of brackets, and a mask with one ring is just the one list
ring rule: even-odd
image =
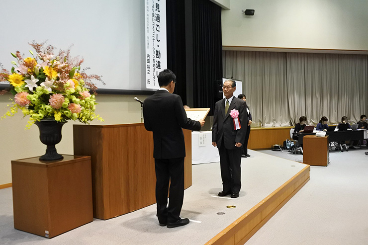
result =
[[157,217],[160,224],[176,222],[180,219],[184,199],[184,158],[155,159],[155,169]]

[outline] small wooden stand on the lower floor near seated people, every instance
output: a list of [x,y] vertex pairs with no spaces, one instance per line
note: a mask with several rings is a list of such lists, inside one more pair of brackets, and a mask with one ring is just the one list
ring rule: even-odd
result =
[[303,137],[303,163],[313,166],[327,166],[328,136],[306,135]]

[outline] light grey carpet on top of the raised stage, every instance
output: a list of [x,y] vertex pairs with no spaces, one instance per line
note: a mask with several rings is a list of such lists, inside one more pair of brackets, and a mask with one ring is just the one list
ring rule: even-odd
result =
[[[151,205],[106,221],[94,219],[49,240],[13,228],[12,189],[2,189],[0,244],[204,244],[305,167],[260,152],[250,151],[250,154],[251,158],[242,159],[242,190],[236,199],[213,197],[222,190],[219,163],[193,165],[193,184],[185,190],[181,214],[192,222],[174,229],[158,225],[156,205]],[[228,205],[236,208],[228,209]],[[293,208],[304,212],[298,206]],[[218,215],[218,212],[225,214]]]

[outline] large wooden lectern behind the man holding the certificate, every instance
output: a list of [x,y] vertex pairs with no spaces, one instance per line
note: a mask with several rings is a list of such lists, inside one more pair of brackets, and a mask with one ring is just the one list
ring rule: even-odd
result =
[[[184,188],[191,186],[191,131],[183,130]],[[156,203],[153,135],[143,123],[73,125],[74,154],[91,156],[93,217],[106,220]]]

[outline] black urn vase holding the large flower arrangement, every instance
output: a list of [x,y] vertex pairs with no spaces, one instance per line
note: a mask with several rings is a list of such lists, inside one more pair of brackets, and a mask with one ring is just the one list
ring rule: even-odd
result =
[[40,130],[40,140],[47,146],[46,154],[41,156],[39,160],[50,161],[59,160],[64,157],[56,152],[55,145],[61,141],[61,128],[66,122],[57,122],[54,119],[42,119],[35,122]]

